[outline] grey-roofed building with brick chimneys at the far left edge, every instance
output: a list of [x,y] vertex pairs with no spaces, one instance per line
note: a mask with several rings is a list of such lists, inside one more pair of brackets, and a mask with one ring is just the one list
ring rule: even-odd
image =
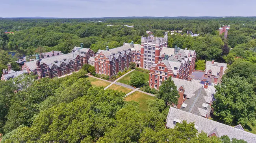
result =
[[13,71],[11,67],[11,63],[8,63],[8,69],[3,69],[3,74],[1,77],[2,81],[10,80],[11,78],[17,78],[19,75],[27,74],[26,70],[22,71]]

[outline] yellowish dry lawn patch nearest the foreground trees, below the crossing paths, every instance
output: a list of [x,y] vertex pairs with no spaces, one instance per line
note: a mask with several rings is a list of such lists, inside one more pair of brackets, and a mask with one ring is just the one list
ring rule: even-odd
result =
[[125,98],[126,101],[136,101],[139,102],[139,110],[141,112],[146,112],[148,110],[147,101],[150,99],[155,99],[155,97],[135,91]]

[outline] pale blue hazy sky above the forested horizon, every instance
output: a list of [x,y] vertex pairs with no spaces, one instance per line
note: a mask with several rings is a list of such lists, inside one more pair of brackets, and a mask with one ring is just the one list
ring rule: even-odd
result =
[[0,17],[256,16],[256,0],[0,0]]

